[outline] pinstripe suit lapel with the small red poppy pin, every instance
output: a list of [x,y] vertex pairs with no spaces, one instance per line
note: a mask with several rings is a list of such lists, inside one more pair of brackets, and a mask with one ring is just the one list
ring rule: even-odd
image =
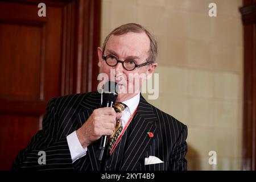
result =
[[[133,126],[126,144],[121,170],[130,171],[136,168],[135,164],[138,164],[138,160],[150,147],[156,136],[158,129],[156,120],[151,105],[141,95],[137,112],[132,121]],[[153,133],[154,137],[149,137],[148,132]]]

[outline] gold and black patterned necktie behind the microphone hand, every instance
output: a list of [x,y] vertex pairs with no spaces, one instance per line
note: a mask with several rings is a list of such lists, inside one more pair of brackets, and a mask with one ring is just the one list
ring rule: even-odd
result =
[[[114,110],[117,113],[122,113],[122,111],[125,109],[125,107],[127,107],[127,106],[125,104],[121,103],[121,102],[115,103]],[[115,130],[114,130],[113,134],[109,135],[109,140],[108,140],[108,142],[109,142],[109,146],[108,146],[109,152],[112,150],[115,142],[117,141],[118,136],[122,132],[122,129],[123,129],[122,123],[118,119],[118,121],[115,123]]]

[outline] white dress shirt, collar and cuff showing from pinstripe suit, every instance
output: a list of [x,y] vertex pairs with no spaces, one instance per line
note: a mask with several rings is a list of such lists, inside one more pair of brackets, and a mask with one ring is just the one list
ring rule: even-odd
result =
[[[139,99],[140,99],[140,95],[138,93],[136,96],[130,98],[129,100],[122,102],[123,104],[127,105],[125,110],[122,111],[121,122],[122,122],[123,128],[125,127],[126,123],[129,121],[131,114],[133,114],[135,109],[137,109],[137,106],[139,105]],[[82,147],[76,135],[76,131],[74,131],[73,133],[67,136],[67,141],[68,141],[68,147],[71,154],[72,162],[75,162],[77,159],[80,159],[86,155],[87,147],[85,148]]]

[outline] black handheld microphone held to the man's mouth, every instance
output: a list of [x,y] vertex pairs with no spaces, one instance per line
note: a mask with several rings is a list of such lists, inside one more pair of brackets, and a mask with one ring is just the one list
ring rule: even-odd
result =
[[[118,96],[118,86],[114,81],[108,81],[104,85],[104,92],[102,93],[102,107],[113,107]],[[100,146],[98,146],[100,154],[98,160],[102,160],[104,152],[108,150],[108,135],[103,135],[100,138]]]

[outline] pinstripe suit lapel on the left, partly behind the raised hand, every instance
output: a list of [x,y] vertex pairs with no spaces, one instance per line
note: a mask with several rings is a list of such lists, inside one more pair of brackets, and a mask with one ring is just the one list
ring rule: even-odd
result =
[[[101,107],[101,94],[99,94],[98,92],[93,92],[81,101],[80,106],[82,107],[82,109],[76,115],[77,129],[79,129],[85,123],[85,121],[90,117],[94,109]],[[93,142],[87,147],[90,164],[92,164],[93,171],[98,171],[100,169],[98,160],[96,158],[96,150],[96,142]]]

